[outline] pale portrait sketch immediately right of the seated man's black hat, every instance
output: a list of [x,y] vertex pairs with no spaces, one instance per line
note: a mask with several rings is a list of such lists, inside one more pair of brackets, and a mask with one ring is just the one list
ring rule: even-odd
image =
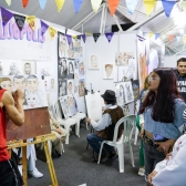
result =
[[116,96],[117,105],[124,106],[125,104],[124,82],[115,83],[115,96]]

